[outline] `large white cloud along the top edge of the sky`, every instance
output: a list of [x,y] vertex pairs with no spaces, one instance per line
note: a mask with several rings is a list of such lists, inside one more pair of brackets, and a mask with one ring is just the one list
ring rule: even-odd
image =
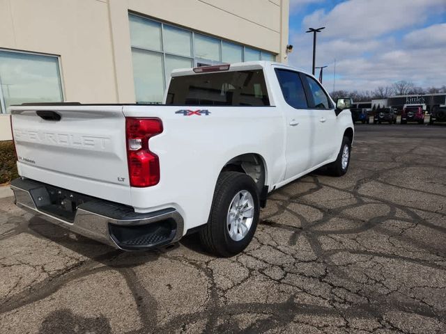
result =
[[446,11],[445,0],[350,0],[328,13],[316,10],[304,17],[302,25],[326,26],[325,37],[374,38],[422,24],[433,11]]

